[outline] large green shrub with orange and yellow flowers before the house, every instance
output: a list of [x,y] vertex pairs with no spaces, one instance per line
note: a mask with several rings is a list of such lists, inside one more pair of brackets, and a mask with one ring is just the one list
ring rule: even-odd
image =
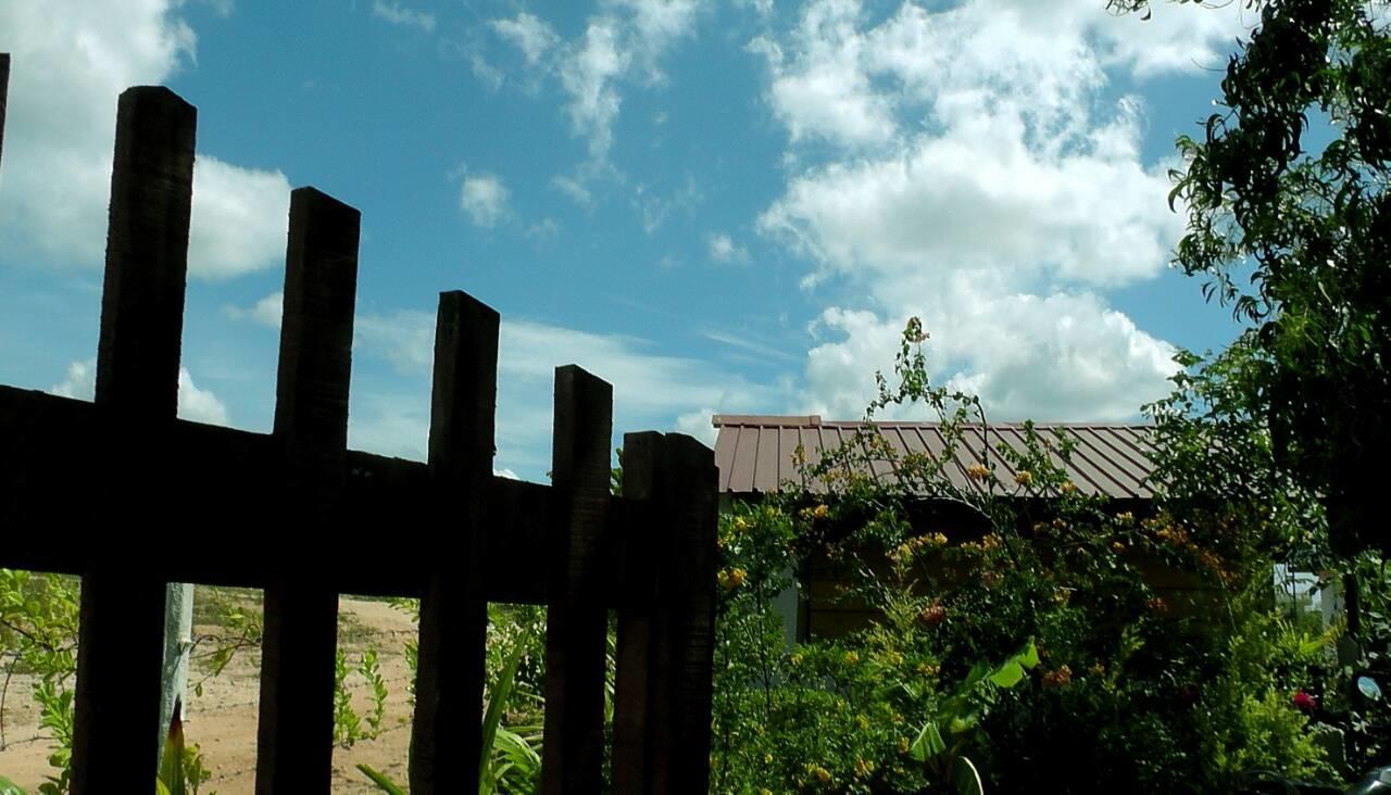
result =
[[[796,482],[721,520],[714,791],[971,791],[925,763],[940,726],[932,759],[968,756],[988,791],[1230,791],[1251,767],[1331,778],[1292,694],[1327,677],[1337,628],[1302,637],[1267,606],[1270,538],[1303,532],[1308,506],[1193,489],[1150,516],[1114,509],[1067,480],[1068,438],[1025,425],[1024,449],[992,443],[979,402],[929,384],[922,339],[910,324],[867,420],[925,406],[944,452],[900,456],[867,424],[817,461],[798,450]],[[1166,459],[1163,423],[1159,442],[1163,471],[1181,456]],[[946,474],[958,452],[976,460],[964,485]],[[789,645],[773,606],[811,563],[874,618]],[[1199,588],[1174,602],[1156,568]],[[974,687],[1025,644],[1036,664]],[[968,717],[943,724],[950,705]]]

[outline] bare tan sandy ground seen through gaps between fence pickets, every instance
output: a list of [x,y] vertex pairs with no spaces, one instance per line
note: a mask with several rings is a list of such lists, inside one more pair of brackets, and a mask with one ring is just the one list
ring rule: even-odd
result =
[[[196,599],[196,596],[195,596]],[[356,667],[369,646],[377,649],[381,675],[391,691],[385,720],[376,739],[359,739],[352,748],[334,748],[334,792],[378,792],[357,771],[366,763],[385,771],[396,781],[406,777],[406,752],[410,742],[410,705],[403,646],[415,637],[416,627],[402,610],[385,602],[342,598],[339,605],[338,642]],[[218,632],[217,627],[195,625],[195,635]],[[260,655],[255,649],[239,653],[218,675],[203,682],[203,695],[189,692],[184,731],[188,742],[203,752],[203,764],[213,773],[202,795],[241,795],[255,791],[256,782],[256,703]],[[203,678],[195,664],[192,681]],[[0,669],[3,677],[3,669]],[[39,727],[38,706],[31,698],[33,682],[15,674],[4,703],[4,748],[0,749],[0,776],[11,778],[31,792],[53,773],[47,756],[51,735]],[[353,707],[363,719],[370,710],[366,681],[356,673],[348,677]]]

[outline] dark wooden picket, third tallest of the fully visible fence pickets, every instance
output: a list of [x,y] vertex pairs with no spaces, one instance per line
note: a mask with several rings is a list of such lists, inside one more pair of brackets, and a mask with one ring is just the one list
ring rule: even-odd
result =
[[[410,792],[477,792],[483,749],[487,596],[483,524],[492,484],[498,313],[462,292],[440,295],[430,402],[435,550],[420,599]],[[462,510],[458,503],[462,502]],[[462,543],[459,543],[462,541]],[[465,548],[463,574],[445,549]]]

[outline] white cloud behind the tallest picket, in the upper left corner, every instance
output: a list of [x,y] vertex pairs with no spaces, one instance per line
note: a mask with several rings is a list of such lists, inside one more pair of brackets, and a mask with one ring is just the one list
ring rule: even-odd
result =
[[[0,51],[14,56],[0,250],[60,267],[99,267],[118,95],[167,82],[196,36],[174,0],[0,4]],[[288,182],[200,154],[189,272],[227,278],[284,253]]]

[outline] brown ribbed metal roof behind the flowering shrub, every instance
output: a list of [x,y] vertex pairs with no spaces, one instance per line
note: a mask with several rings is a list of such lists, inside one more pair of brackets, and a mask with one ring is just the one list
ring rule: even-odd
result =
[[[808,461],[815,461],[822,449],[833,449],[865,427],[862,421],[832,421],[821,417],[765,417],[716,414],[715,464],[719,466],[719,488],[726,493],[772,492],[787,480],[797,478],[793,452],[801,445]],[[946,449],[938,423],[874,423],[885,439],[899,452],[940,454]],[[1053,431],[1066,431],[1077,441],[1067,464],[1068,477],[1082,493],[1104,495],[1116,499],[1150,499],[1153,492],[1145,484],[1150,463],[1149,425],[1103,423],[1035,423],[1045,441]],[[986,445],[989,436],[989,445]],[[979,463],[981,450],[990,449],[990,463],[1002,482],[1011,484],[1014,470],[995,453],[1006,443],[1024,449],[1022,423],[992,423],[989,427],[971,424],[956,450],[956,467],[946,470],[958,486],[971,485],[965,470]],[[1054,457],[1054,461],[1060,460]],[[887,461],[871,464],[876,478],[893,477]],[[821,491],[821,484],[810,484]]]

